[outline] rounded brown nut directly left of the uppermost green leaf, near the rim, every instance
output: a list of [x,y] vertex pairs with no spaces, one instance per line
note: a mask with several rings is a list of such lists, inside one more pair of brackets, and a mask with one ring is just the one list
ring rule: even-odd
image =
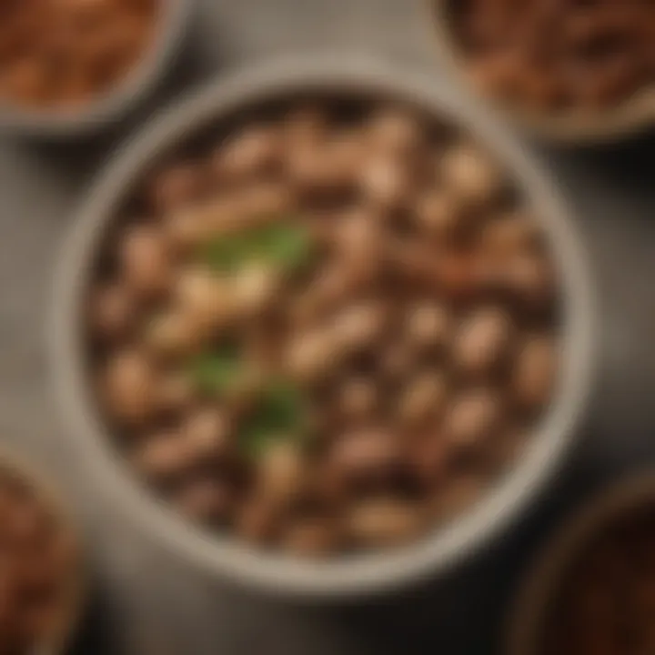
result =
[[166,235],[153,226],[126,230],[120,243],[120,270],[126,286],[142,297],[153,297],[170,285],[172,263]]

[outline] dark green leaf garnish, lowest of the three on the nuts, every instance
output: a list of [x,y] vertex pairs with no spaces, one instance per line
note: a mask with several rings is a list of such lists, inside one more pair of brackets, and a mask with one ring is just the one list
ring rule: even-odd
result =
[[305,403],[297,388],[284,381],[269,384],[241,427],[241,447],[257,459],[280,438],[302,438],[305,416]]

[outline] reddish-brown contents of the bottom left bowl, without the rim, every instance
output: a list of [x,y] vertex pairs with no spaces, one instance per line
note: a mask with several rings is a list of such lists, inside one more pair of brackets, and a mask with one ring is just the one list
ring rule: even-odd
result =
[[69,604],[76,542],[27,483],[0,469],[0,653],[48,643]]

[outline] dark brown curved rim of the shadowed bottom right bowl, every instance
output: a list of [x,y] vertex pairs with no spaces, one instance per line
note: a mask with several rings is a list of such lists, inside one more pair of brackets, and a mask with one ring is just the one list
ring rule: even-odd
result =
[[655,470],[641,471],[595,493],[555,530],[529,564],[509,609],[505,634],[507,655],[539,655],[539,629],[548,603],[557,593],[562,575],[581,549],[631,509],[655,505]]

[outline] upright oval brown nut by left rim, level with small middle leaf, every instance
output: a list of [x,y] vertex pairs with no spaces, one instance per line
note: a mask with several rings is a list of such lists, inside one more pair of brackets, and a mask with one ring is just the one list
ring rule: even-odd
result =
[[142,352],[120,351],[109,359],[102,379],[106,407],[120,421],[144,421],[156,406],[155,384],[155,372]]

